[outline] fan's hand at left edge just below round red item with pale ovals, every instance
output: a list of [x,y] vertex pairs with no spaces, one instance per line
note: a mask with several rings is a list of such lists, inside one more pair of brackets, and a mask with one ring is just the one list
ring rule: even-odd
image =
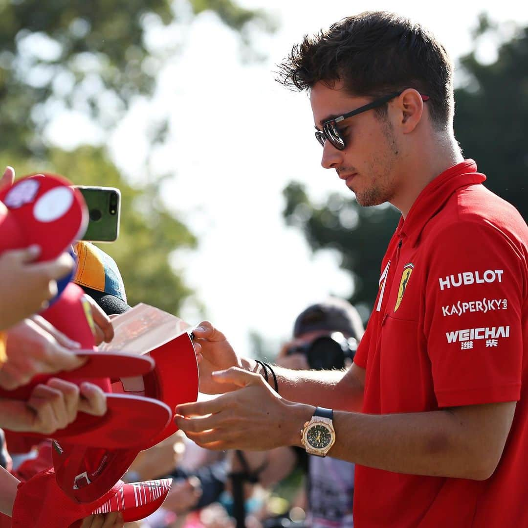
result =
[[39,246],[30,246],[0,255],[0,329],[44,308],[57,293],[56,281],[73,269],[68,253],[53,261],[33,262],[39,254]]

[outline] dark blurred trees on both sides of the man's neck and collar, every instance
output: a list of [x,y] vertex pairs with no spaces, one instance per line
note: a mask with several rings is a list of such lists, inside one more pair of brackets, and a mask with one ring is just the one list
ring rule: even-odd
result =
[[[502,40],[497,60],[482,64],[477,50],[461,59],[467,75],[455,90],[455,134],[466,158],[476,160],[486,185],[513,203],[528,219],[528,28],[504,41],[501,26],[482,15],[475,30],[475,45],[482,39]],[[360,207],[355,199],[338,194],[317,205],[303,184],[284,190],[284,217],[305,234],[313,251],[333,248],[341,267],[355,283],[350,301],[372,310],[378,292],[381,259],[400,214],[387,204]]]

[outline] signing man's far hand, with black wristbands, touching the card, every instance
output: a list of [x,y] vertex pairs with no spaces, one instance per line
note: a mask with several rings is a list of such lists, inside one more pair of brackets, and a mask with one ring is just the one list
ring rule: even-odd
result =
[[250,361],[238,357],[222,332],[214,328],[209,321],[202,321],[200,326],[193,330],[193,334],[194,351],[200,371],[200,392],[222,394],[240,388],[237,385],[215,382],[211,373],[230,367],[251,370]]

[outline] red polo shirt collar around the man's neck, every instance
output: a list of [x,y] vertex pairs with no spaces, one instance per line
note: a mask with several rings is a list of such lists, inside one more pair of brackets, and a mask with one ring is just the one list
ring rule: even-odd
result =
[[484,174],[477,172],[473,160],[464,160],[438,175],[420,192],[414,200],[407,218],[400,218],[396,230],[400,238],[408,237],[414,246],[428,221],[444,207],[452,193],[461,187],[475,185],[486,180]]

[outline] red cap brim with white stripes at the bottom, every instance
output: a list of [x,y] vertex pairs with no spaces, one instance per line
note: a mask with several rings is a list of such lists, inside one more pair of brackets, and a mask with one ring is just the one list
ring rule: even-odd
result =
[[125,484],[92,514],[122,512],[126,523],[139,521],[153,514],[163,504],[171,485],[172,478]]

